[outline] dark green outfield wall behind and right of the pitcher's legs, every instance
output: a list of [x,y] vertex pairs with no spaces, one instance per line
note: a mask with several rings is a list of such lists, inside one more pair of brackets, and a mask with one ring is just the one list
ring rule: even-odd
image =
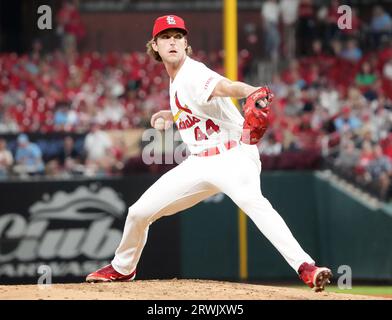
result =
[[[336,276],[392,280],[392,215],[373,209],[313,172],[265,172],[262,190],[294,237]],[[238,278],[237,211],[231,200],[202,204],[181,217],[184,277]],[[248,220],[248,279],[296,277],[279,252]]]

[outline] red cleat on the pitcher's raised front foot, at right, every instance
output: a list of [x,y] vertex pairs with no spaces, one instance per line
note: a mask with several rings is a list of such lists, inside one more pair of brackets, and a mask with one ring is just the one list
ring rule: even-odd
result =
[[304,262],[298,269],[299,278],[315,292],[324,290],[325,285],[331,283],[332,272],[328,268],[317,267]]

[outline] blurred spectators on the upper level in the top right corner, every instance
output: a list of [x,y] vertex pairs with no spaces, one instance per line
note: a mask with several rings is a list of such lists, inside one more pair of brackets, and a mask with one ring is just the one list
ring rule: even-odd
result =
[[265,0],[261,4],[262,34],[248,27],[249,42],[260,38],[272,62],[312,54],[318,39],[325,50],[340,51],[349,60],[362,57],[361,47],[377,50],[392,35],[391,13],[381,5],[348,6],[340,0]]

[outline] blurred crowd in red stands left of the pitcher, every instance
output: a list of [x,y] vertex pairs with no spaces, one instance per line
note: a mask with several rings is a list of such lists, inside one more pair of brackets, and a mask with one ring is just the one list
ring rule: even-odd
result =
[[[222,52],[194,57],[223,73]],[[239,58],[242,78],[249,54]],[[169,108],[168,81],[142,52],[43,54],[35,43],[30,54],[0,53],[0,134],[17,135],[1,139],[0,177],[121,174],[126,145],[107,132],[149,128],[151,115]],[[66,138],[30,141],[37,133]]]

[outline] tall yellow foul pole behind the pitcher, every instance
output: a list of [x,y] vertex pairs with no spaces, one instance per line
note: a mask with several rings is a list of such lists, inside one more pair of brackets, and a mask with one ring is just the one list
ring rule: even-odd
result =
[[[230,80],[237,80],[237,0],[224,0],[224,49],[225,72]],[[238,102],[234,101],[238,107]],[[241,280],[248,278],[248,242],[247,218],[238,209],[238,247],[239,247],[239,275]]]

